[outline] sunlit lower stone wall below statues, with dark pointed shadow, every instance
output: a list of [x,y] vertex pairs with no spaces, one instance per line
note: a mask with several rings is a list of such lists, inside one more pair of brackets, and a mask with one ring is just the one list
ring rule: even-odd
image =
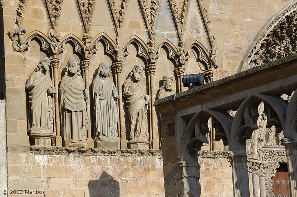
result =
[[10,146],[7,159],[8,193],[164,196],[161,151]]

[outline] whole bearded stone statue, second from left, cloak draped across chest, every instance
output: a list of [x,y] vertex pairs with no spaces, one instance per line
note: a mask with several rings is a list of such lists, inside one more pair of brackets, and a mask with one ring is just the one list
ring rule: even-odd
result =
[[87,146],[87,95],[79,64],[75,59],[69,59],[59,88],[61,129],[65,146]]

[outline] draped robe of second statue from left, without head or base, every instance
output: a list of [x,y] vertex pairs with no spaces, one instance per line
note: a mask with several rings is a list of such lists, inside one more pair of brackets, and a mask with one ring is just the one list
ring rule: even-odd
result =
[[88,115],[84,100],[83,78],[64,76],[59,88],[62,132],[64,141],[86,140]]

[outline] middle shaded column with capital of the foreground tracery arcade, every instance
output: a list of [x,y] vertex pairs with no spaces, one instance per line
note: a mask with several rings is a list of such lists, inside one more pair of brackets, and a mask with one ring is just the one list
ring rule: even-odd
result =
[[247,171],[247,154],[245,151],[230,151],[232,164],[233,195],[249,197],[249,173]]

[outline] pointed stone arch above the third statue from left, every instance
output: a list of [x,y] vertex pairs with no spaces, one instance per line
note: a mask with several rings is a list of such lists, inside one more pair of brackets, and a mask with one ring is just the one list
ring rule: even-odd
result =
[[93,54],[98,51],[97,44],[98,42],[103,41],[105,44],[105,53],[109,54],[113,58],[113,61],[116,59],[114,54],[114,49],[116,48],[116,43],[104,32],[99,33],[93,38],[91,46],[93,46]]

